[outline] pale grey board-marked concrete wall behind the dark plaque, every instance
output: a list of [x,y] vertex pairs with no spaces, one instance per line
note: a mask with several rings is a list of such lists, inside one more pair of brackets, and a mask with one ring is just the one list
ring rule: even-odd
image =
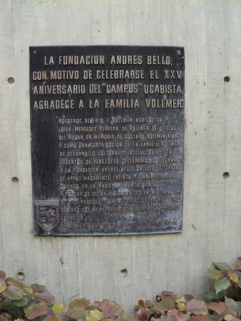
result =
[[[240,255],[240,16],[239,1],[0,1],[0,269],[128,313],[162,290],[202,297],[211,261]],[[182,233],[33,236],[29,46],[97,44],[185,48]]]

